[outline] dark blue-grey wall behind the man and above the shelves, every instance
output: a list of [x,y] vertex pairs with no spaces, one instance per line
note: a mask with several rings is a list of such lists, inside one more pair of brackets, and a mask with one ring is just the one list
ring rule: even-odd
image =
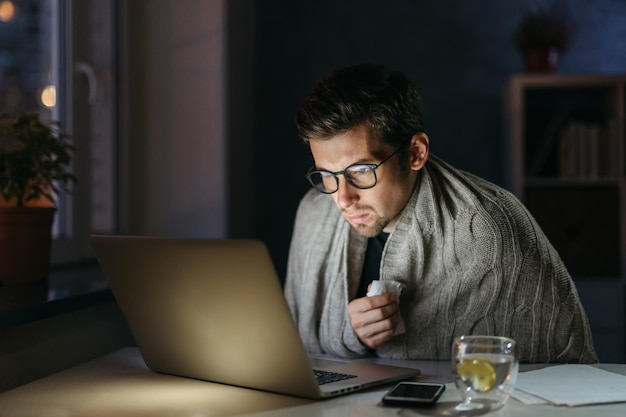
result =
[[[293,115],[313,83],[358,62],[402,70],[421,90],[431,151],[503,184],[503,90],[523,71],[512,36],[528,0],[257,2],[260,236],[284,276],[312,163]],[[558,72],[626,72],[626,1],[565,3],[576,37]]]

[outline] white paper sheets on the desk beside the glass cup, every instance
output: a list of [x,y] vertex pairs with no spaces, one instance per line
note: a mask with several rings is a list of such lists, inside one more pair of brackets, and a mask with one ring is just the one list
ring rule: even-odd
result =
[[537,404],[537,398],[554,405],[578,406],[626,402],[626,376],[589,365],[554,365],[521,372],[513,397],[524,404]]

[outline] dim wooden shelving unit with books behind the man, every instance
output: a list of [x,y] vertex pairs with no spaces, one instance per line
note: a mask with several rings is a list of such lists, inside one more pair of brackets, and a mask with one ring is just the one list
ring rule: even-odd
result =
[[626,75],[515,75],[507,185],[559,251],[600,360],[626,358]]

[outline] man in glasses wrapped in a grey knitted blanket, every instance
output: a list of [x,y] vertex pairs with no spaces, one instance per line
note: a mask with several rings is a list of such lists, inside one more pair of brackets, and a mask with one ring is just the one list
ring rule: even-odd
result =
[[[285,297],[310,352],[447,359],[454,337],[488,334],[525,362],[597,361],[557,252],[512,194],[429,154],[405,75],[338,70],[296,125],[315,165]],[[395,285],[368,296],[372,282]]]

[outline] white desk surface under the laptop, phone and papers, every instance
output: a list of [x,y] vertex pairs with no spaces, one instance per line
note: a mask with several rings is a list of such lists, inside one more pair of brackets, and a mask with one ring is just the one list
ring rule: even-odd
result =
[[[385,361],[387,362],[387,361]],[[407,364],[408,362],[402,362]],[[422,369],[419,380],[450,382],[447,362],[411,362]],[[626,365],[604,365],[626,375]],[[522,368],[524,369],[524,368]],[[0,372],[1,375],[1,372]],[[458,392],[449,387],[433,409],[382,407],[389,386],[343,397],[310,401],[151,372],[136,348],[125,348],[94,361],[0,394],[0,416],[11,417],[375,417],[450,415]],[[489,416],[624,416],[626,403],[585,407],[526,406],[515,400]]]

